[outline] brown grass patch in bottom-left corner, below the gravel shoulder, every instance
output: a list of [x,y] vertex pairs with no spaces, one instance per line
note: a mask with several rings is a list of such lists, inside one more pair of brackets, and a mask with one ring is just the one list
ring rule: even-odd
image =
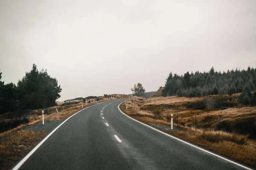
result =
[[40,141],[47,132],[19,130],[0,142],[0,169],[5,170],[20,159],[27,150]]

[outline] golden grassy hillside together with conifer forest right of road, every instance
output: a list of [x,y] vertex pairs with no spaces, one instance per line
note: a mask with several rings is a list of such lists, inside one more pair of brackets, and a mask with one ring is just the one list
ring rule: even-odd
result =
[[181,76],[171,72],[151,98],[127,101],[121,109],[140,122],[256,167],[255,88],[256,69],[250,67],[223,73],[212,67]]

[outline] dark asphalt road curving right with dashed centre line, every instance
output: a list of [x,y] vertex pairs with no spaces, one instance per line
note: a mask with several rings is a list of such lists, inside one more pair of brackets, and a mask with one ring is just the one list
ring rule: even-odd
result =
[[243,169],[123,115],[125,99],[87,108],[61,125],[20,170]]

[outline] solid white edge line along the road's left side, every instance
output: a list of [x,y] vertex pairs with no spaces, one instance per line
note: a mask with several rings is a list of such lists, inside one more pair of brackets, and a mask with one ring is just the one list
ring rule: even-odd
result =
[[[101,103],[103,103],[103,102],[101,102]],[[100,104],[100,103],[97,103],[96,105],[98,105],[98,104]],[[92,106],[95,106],[95,105],[92,105]],[[90,108],[92,106],[89,106],[87,108]],[[87,108],[84,108],[84,109],[87,109]],[[82,109],[81,111],[83,111],[84,109]],[[63,125],[65,122],[67,122],[68,119],[75,116],[77,113],[79,113],[81,111],[78,111],[78,112],[74,113],[73,115],[71,115],[64,122],[62,122],[61,125]],[[58,125],[58,127],[56,127],[54,130],[52,130],[52,132],[49,133],[49,135],[47,135],[33,150],[31,150],[12,170],[18,170],[21,167],[21,165],[24,164],[24,162],[27,159],[29,159],[29,157],[52,135],[52,133],[54,133],[59,127],[61,127],[61,125]]]

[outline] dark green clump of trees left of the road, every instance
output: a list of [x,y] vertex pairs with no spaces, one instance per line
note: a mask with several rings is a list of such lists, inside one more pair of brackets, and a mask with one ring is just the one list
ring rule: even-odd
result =
[[0,81],[0,114],[15,111],[20,115],[18,113],[22,110],[55,106],[61,90],[56,78],[50,77],[47,70],[38,71],[33,64],[32,70],[26,72],[17,85]]

